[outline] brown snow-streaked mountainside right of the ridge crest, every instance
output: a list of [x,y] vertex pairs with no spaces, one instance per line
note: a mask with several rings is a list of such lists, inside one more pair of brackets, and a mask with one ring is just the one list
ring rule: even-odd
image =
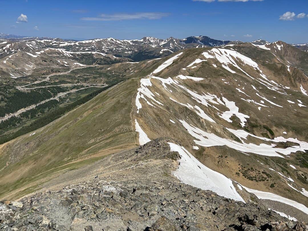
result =
[[140,141],[172,137],[242,185],[307,206],[306,61],[298,67],[273,49],[244,43],[169,56],[139,82]]

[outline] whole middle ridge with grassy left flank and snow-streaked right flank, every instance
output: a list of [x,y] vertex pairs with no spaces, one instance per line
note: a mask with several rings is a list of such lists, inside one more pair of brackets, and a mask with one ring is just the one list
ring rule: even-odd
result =
[[131,63],[132,79],[2,145],[2,197],[166,136],[233,184],[308,206],[307,56],[281,44],[185,49]]

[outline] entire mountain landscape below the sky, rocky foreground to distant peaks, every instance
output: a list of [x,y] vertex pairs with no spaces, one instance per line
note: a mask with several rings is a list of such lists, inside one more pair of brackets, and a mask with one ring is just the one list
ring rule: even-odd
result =
[[0,223],[306,230],[308,52],[294,45],[0,40]]

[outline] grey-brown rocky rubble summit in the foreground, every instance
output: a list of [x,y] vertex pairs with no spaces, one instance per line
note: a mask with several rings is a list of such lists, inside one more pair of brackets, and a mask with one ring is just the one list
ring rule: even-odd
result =
[[169,141],[151,141],[59,179],[89,175],[78,184],[0,202],[0,230],[308,230],[253,194],[242,194],[245,204],[182,184],[172,175],[180,156]]

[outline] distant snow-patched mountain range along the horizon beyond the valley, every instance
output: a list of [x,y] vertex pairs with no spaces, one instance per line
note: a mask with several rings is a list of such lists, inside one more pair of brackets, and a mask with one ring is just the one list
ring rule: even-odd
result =
[[[49,71],[48,68],[66,70],[80,64],[141,61],[164,57],[187,48],[220,47],[240,43],[242,42],[216,40],[207,36],[190,36],[185,39],[144,37],[133,40],[107,38],[84,41],[0,38],[0,76],[18,78],[42,75]],[[252,43],[257,46],[270,44],[264,40]],[[24,60],[27,60],[27,63]]]

